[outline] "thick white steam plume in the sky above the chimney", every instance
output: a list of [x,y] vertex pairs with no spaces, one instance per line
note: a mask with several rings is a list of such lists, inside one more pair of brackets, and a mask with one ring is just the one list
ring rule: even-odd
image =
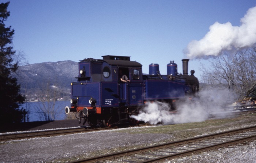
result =
[[215,22],[204,38],[191,41],[184,53],[189,59],[208,58],[256,45],[256,7],[249,8],[240,22],[240,26]]

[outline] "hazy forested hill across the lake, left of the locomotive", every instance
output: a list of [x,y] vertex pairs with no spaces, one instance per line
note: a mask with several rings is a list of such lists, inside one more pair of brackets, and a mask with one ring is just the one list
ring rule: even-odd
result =
[[[20,66],[13,74],[21,86],[21,93],[27,96],[27,100],[42,98],[42,94],[48,88],[58,90],[58,98],[69,98],[70,83],[75,82],[78,76],[78,62],[58,61],[43,62]],[[56,98],[56,97],[54,97]]]

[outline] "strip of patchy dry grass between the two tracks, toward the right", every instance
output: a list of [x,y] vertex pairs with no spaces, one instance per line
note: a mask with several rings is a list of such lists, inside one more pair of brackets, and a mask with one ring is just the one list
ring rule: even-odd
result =
[[186,139],[188,137],[221,132],[221,130],[230,130],[233,128],[241,128],[242,126],[256,125],[255,115],[256,114],[245,114],[233,118],[211,119],[204,122],[193,122],[186,124],[161,125],[152,128],[132,128],[118,130],[116,132],[125,132],[130,134],[172,134],[178,139]]

